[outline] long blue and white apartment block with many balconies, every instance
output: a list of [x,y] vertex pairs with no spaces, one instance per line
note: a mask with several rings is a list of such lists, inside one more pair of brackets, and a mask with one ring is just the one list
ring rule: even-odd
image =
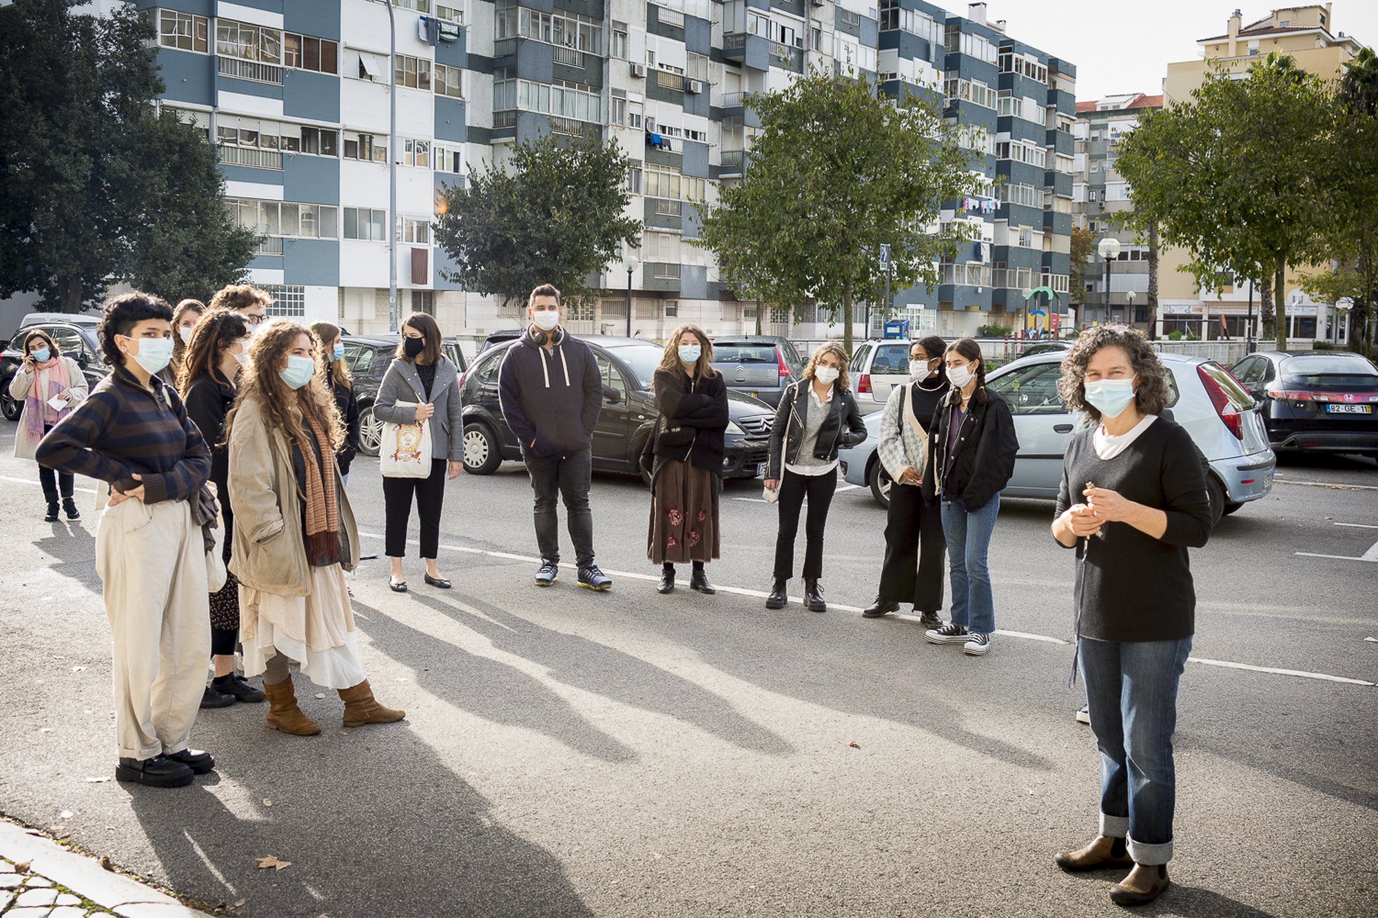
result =
[[[641,247],[595,278],[572,312],[584,334],[661,338],[682,321],[754,331],[693,244],[718,183],[740,181],[759,120],[750,92],[784,88],[810,66],[850,66],[890,94],[944,105],[978,153],[984,193],[941,222],[980,238],[938,266],[933,289],[894,292],[914,331],[970,334],[1017,324],[1036,287],[1067,296],[1075,68],[991,21],[923,0],[152,0],[161,103],[220,149],[226,198],[265,243],[249,266],[280,314],[351,331],[387,327],[387,234],[401,313],[433,313],[467,335],[510,328],[517,306],[462,291],[430,222],[469,164],[504,161],[539,134],[594,135],[633,159],[628,214]],[[397,143],[389,149],[389,106]],[[389,227],[390,159],[398,207]],[[934,226],[934,230],[940,226]],[[631,309],[628,320],[627,310]],[[1065,302],[1060,303],[1065,310]],[[875,303],[875,327],[883,303]],[[762,316],[773,334],[834,338],[816,307]],[[854,329],[861,334],[864,329]]]

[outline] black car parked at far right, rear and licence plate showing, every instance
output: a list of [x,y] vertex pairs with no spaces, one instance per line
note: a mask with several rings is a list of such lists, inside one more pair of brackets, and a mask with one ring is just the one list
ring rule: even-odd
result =
[[1232,372],[1261,402],[1273,451],[1378,458],[1378,369],[1361,354],[1265,350]]

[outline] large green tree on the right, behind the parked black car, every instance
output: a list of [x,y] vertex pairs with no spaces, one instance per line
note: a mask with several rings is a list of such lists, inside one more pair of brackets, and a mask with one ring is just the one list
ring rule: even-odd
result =
[[1334,130],[1326,81],[1269,54],[1244,79],[1218,68],[1191,101],[1146,112],[1116,163],[1134,189],[1131,225],[1158,223],[1202,287],[1222,270],[1273,278],[1279,347],[1287,266],[1315,263],[1333,237]]

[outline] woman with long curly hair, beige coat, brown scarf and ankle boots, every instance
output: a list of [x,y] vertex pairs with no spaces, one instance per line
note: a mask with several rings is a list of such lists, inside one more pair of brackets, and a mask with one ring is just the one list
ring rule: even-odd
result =
[[405,717],[373,699],[358,657],[344,587],[358,529],[335,460],[344,430],[317,358],[305,325],[265,323],[226,419],[244,671],[263,674],[267,725],[296,736],[321,728],[296,703],[288,659],[339,692],[346,726]]

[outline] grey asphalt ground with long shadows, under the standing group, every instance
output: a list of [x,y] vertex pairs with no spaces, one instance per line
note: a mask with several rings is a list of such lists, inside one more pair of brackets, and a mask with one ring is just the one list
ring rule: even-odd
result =
[[[269,731],[263,704],[203,711],[193,744],[216,772],[160,791],[107,780],[94,495],[77,495],[80,524],[43,522],[12,438],[0,425],[0,812],[200,904],[255,918],[1120,914],[1118,875],[1051,863],[1096,833],[1098,757],[1072,718],[1073,568],[1047,503],[1002,507],[1002,633],[967,657],[926,645],[912,619],[857,613],[883,550],[865,489],[834,500],[832,605],[817,615],[765,609],[776,509],[759,482],[723,493],[718,595],[682,583],[660,597],[639,481],[595,476],[615,586],[594,594],[572,567],[532,584],[520,466],[464,476],[441,533],[453,590],[424,586],[415,557],[407,595],[382,558],[350,579],[375,693],[407,721],[344,729],[333,693],[298,677],[320,736]],[[356,460],[350,496],[380,551],[376,462]],[[1374,914],[1378,467],[1284,463],[1192,568],[1174,886],[1140,914]],[[265,856],[291,866],[259,868]]]

